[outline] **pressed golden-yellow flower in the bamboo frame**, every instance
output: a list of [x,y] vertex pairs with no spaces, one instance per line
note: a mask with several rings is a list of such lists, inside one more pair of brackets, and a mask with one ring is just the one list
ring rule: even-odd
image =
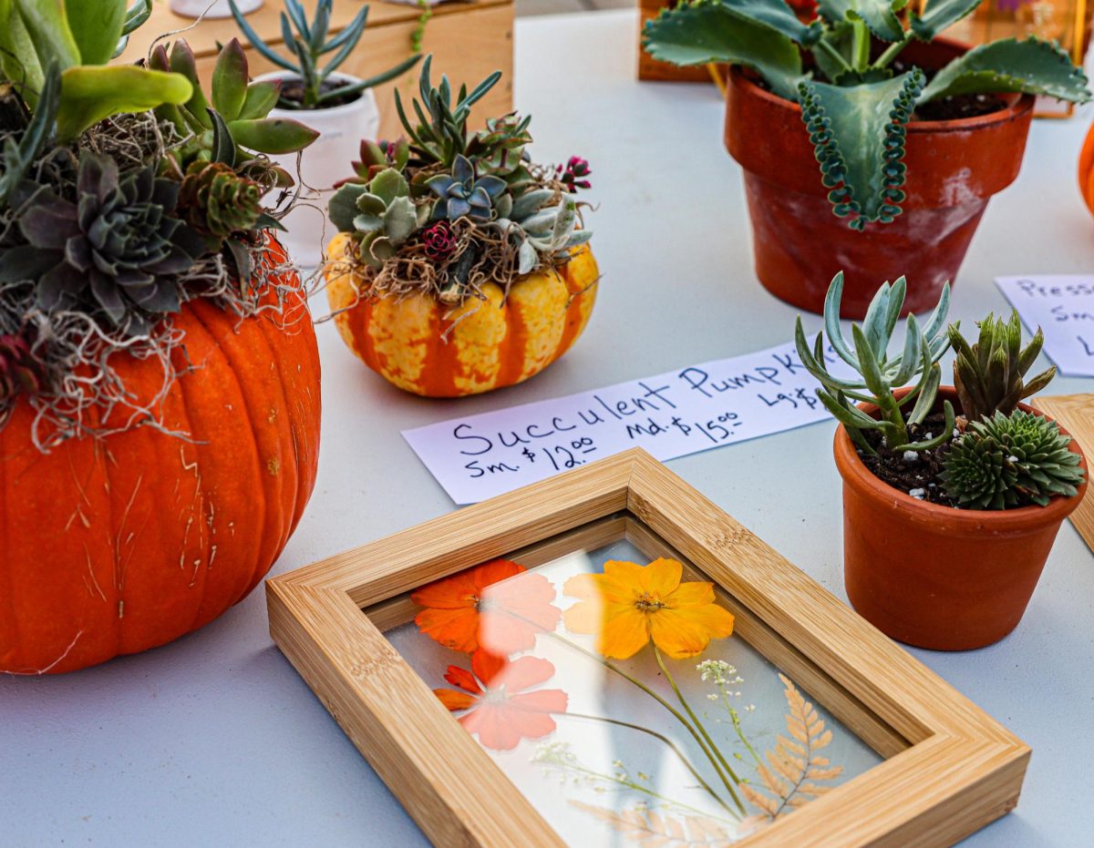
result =
[[563,613],[574,633],[596,635],[596,649],[625,660],[653,644],[674,659],[694,657],[733,633],[733,615],[714,602],[713,584],[680,582],[675,560],[649,565],[610,561],[604,574],[579,574],[562,591],[581,599]]

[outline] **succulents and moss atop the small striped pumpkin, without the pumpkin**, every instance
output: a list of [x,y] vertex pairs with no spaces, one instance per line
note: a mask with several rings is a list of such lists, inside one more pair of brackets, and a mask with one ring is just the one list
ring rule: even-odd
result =
[[589,163],[563,169],[531,162],[531,118],[516,114],[467,128],[472,107],[498,82],[468,91],[447,76],[434,86],[421,69],[417,121],[396,91],[407,138],[363,141],[354,176],[329,202],[331,223],[350,234],[374,291],[419,287],[462,302],[485,280],[509,286],[523,274],[567,262],[589,242],[574,193],[590,186]]

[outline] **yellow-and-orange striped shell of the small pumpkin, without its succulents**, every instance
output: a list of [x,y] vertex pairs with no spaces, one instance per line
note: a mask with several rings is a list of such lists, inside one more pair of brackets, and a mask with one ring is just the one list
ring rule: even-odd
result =
[[[350,238],[330,243],[348,256]],[[327,298],[342,339],[365,365],[400,389],[456,398],[511,386],[538,374],[566,353],[585,329],[596,299],[596,260],[589,246],[558,270],[526,274],[509,295],[493,283],[484,299],[458,306],[427,294],[361,297],[357,273],[335,262]]]

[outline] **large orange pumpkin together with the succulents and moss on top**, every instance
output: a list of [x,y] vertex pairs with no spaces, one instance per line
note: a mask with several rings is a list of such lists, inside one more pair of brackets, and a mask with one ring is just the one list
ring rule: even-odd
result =
[[[48,7],[48,9],[47,9]],[[315,481],[319,363],[237,43],[105,63],[148,0],[0,2],[0,672],[162,645],[241,600]]]

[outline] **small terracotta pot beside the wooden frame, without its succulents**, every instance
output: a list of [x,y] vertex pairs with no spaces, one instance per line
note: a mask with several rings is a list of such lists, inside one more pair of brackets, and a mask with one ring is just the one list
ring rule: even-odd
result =
[[[952,387],[939,396],[957,403]],[[1071,449],[1083,457],[1076,441]],[[1060,523],[1086,487],[1046,507],[954,509],[874,476],[842,425],[835,454],[843,478],[843,579],[851,604],[894,639],[935,650],[982,648],[1017,626]]]

